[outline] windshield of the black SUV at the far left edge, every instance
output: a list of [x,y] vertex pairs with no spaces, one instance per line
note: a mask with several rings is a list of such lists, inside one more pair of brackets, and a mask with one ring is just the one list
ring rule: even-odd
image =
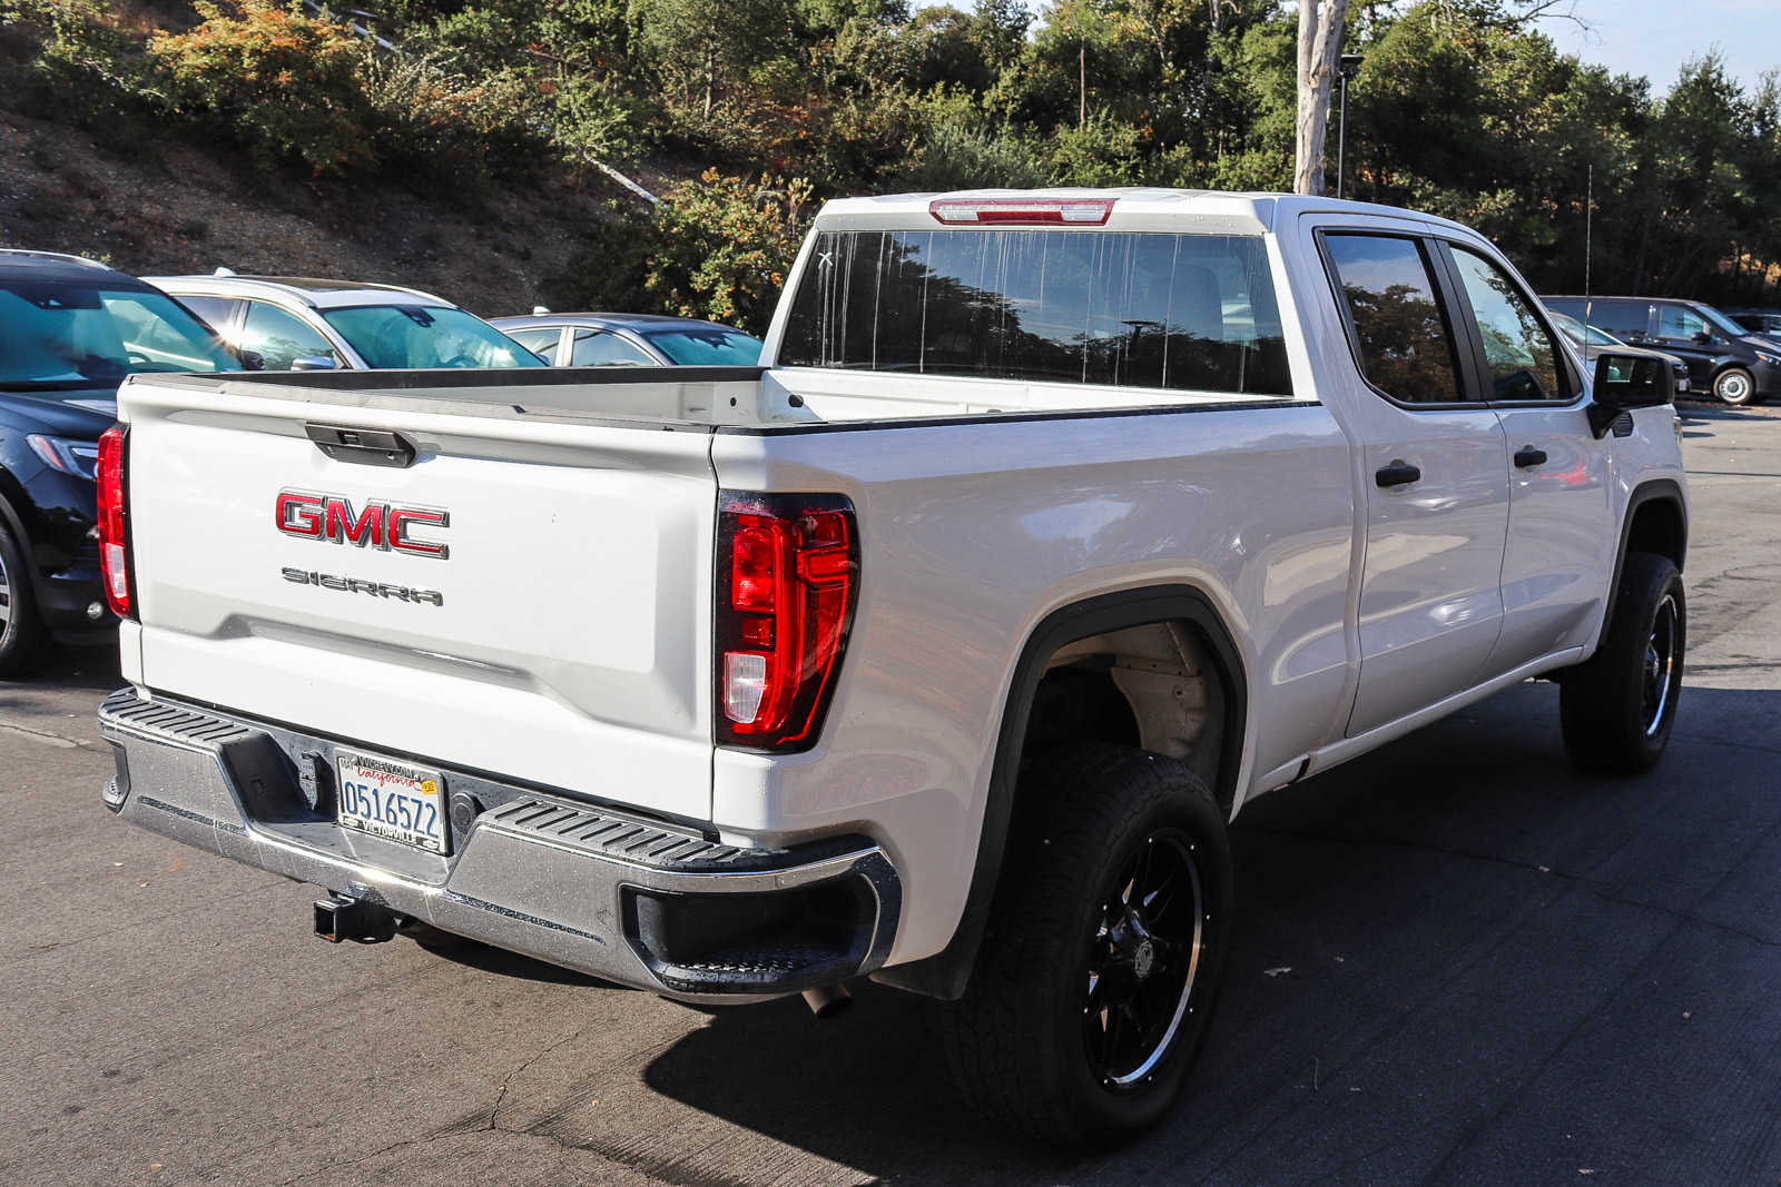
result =
[[0,388],[93,390],[137,372],[240,370],[171,297],[77,281],[0,281]]

